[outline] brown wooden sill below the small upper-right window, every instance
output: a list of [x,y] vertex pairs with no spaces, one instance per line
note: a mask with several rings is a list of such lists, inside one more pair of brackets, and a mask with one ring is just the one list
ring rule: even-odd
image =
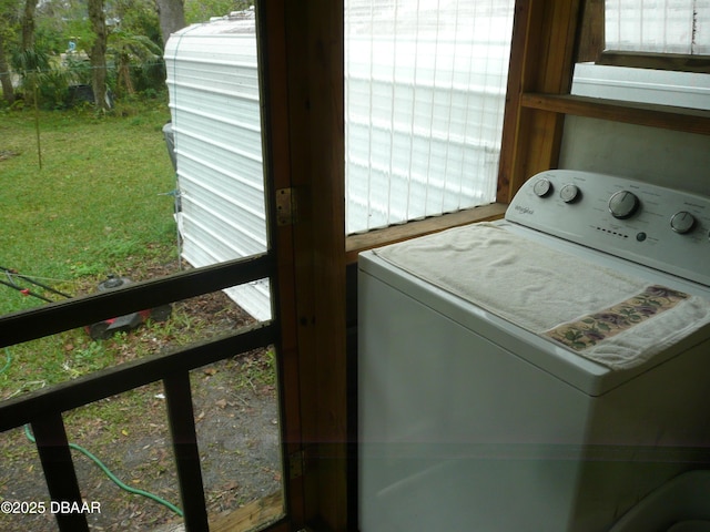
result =
[[525,93],[520,104],[561,114],[710,135],[710,111],[567,94]]

